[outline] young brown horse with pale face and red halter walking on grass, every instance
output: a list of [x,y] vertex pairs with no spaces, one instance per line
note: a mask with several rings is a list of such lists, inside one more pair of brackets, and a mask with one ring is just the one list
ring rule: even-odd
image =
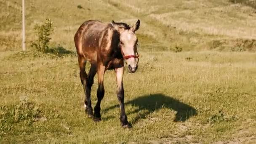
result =
[[[125,114],[123,72],[125,60],[128,72],[133,73],[138,67],[138,39],[135,31],[139,29],[139,25],[139,20],[133,27],[125,23],[116,23],[115,21],[110,24],[105,24],[101,21],[85,21],[75,34],[74,40],[80,67],[80,79],[85,92],[85,112],[94,121],[101,120],[100,104],[104,97],[104,73],[108,69],[115,69],[117,98],[121,109],[120,121],[123,127],[132,127],[128,123]],[[85,72],[87,61],[91,63],[88,75]],[[98,101],[94,107],[93,115],[91,87],[96,73],[98,74],[99,87],[97,90]]]

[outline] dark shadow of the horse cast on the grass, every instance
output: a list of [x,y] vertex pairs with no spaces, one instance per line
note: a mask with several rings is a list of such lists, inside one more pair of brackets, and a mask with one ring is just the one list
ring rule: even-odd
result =
[[[197,111],[194,107],[184,104],[171,96],[165,96],[160,93],[140,96],[136,99],[125,102],[125,105],[129,104],[138,108],[132,112],[128,112],[127,115],[140,112],[139,115],[136,115],[136,117],[131,120],[131,123],[137,123],[138,120],[144,119],[147,115],[150,115],[152,112],[158,111],[162,108],[168,108],[176,111],[175,118],[173,120],[174,122],[185,122],[190,117],[197,115]],[[106,110],[109,111],[116,107],[119,107],[119,104],[105,109],[105,112]]]

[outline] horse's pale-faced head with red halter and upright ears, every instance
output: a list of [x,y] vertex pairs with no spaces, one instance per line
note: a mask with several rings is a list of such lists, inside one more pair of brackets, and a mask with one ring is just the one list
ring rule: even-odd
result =
[[137,53],[138,39],[135,31],[139,29],[140,21],[138,20],[133,27],[125,23],[115,23],[112,21],[113,26],[120,33],[119,47],[123,54],[123,58],[127,61],[128,72],[135,72],[138,68],[139,56]]

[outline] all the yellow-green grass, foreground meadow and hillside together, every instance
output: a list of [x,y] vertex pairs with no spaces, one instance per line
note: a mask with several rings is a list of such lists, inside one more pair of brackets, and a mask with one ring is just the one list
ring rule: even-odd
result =
[[[256,143],[253,0],[26,4],[27,51],[21,52],[21,1],[0,1],[1,144]],[[58,55],[29,47],[33,27],[46,18],[56,27],[51,47],[59,48]],[[102,121],[94,123],[84,113],[73,37],[88,19],[141,20],[139,69],[124,74],[130,130],[120,125],[113,71],[104,77]],[[93,107],[97,77],[94,83]]]

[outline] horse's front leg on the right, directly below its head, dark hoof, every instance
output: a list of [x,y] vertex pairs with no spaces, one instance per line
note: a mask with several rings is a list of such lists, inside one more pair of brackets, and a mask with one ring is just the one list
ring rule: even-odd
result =
[[124,128],[131,128],[131,124],[127,120],[125,114],[125,105],[124,105],[124,90],[123,90],[123,71],[124,67],[116,68],[116,79],[117,79],[117,98],[120,103],[121,115],[120,121]]

